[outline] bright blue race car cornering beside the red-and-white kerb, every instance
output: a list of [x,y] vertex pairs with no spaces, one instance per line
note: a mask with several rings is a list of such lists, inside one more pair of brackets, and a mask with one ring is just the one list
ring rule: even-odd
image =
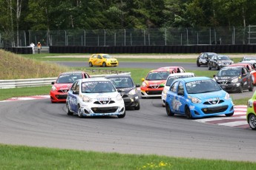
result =
[[168,90],[165,109],[168,116],[186,115],[203,118],[214,115],[234,115],[229,93],[211,78],[194,77],[175,80]]

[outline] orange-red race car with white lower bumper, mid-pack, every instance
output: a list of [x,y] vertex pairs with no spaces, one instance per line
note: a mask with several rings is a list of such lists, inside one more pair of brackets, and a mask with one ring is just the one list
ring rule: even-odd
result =
[[148,72],[146,78],[142,78],[141,97],[161,97],[166,78],[171,73],[174,73],[173,69],[153,69]]

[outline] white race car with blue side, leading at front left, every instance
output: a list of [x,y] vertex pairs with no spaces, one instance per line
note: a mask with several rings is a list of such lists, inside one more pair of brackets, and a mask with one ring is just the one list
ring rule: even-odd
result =
[[115,86],[106,78],[79,79],[68,91],[68,115],[125,117],[125,103]]

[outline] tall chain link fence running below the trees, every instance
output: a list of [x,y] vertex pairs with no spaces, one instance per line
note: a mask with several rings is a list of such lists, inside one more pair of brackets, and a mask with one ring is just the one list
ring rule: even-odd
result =
[[256,44],[256,26],[168,27],[119,30],[40,30],[0,33],[0,47],[42,46],[171,46],[209,44]]

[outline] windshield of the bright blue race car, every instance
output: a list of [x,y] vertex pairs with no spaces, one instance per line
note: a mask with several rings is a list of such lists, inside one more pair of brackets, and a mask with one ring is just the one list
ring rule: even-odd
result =
[[211,79],[202,81],[191,81],[186,83],[186,89],[188,94],[206,93],[206,92],[217,92],[220,91],[220,86]]

